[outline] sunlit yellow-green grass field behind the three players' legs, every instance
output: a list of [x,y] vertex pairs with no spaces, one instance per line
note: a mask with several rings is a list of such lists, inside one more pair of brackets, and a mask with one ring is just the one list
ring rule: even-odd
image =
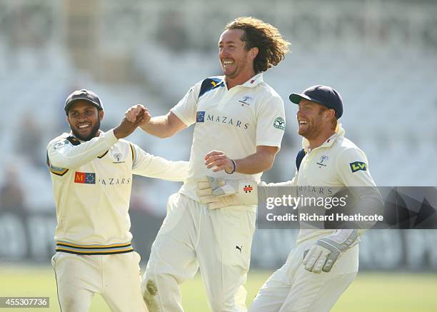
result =
[[[253,271],[248,276],[247,304],[271,272]],[[353,284],[336,303],[333,312],[435,312],[437,311],[437,273],[359,273]],[[5,268],[0,266],[0,296],[50,297],[50,308],[25,311],[59,311],[56,283],[50,267]],[[207,312],[204,287],[196,276],[182,286],[187,312]],[[2,309],[0,311],[18,311]],[[109,311],[100,296],[94,296],[90,311]],[[268,311],[266,311],[268,312]]]

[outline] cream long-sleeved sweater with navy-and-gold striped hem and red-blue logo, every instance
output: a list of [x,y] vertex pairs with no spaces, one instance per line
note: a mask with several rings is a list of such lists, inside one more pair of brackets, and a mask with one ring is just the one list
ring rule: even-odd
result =
[[56,251],[108,254],[132,251],[129,218],[132,174],[184,181],[186,161],[167,161],[114,131],[90,141],[62,134],[47,146],[56,218]]

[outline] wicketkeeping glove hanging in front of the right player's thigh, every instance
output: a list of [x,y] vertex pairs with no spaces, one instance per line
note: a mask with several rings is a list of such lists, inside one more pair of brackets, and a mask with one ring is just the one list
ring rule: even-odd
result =
[[358,230],[337,230],[331,235],[320,238],[303,253],[303,266],[313,273],[329,272],[341,253],[358,242]]

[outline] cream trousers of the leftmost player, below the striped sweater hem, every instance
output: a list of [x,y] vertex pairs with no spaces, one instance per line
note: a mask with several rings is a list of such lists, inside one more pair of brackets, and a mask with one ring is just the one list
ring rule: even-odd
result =
[[57,252],[51,264],[61,312],[89,311],[94,293],[111,311],[148,311],[141,296],[139,261],[135,251],[90,256]]

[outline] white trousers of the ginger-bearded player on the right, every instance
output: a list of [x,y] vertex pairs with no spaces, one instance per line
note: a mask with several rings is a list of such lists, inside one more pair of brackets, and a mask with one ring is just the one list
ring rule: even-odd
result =
[[306,271],[303,252],[316,240],[298,244],[286,263],[261,287],[249,312],[326,312],[330,311],[358,272],[358,245],[343,253],[331,272]]

